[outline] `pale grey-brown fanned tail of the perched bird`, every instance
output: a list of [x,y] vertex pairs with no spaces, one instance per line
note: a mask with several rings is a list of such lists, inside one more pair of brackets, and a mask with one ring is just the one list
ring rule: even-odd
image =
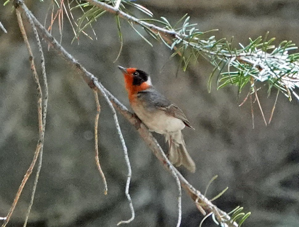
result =
[[184,166],[187,170],[194,173],[195,163],[190,157],[181,130],[170,132],[165,135],[168,142],[168,159],[174,166]]

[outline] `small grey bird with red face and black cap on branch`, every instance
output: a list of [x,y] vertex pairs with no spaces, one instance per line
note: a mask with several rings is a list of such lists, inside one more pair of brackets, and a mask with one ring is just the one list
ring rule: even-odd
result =
[[150,131],[165,136],[169,161],[194,173],[195,163],[186,149],[181,132],[186,126],[194,129],[186,115],[154,88],[149,74],[137,68],[118,68],[124,76],[129,103],[135,114]]

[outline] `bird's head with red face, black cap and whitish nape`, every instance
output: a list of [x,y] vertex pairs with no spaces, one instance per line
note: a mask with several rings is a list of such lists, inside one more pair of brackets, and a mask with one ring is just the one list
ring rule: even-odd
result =
[[122,71],[125,79],[125,88],[130,96],[136,94],[139,91],[146,90],[152,86],[150,77],[144,71],[136,68],[124,68],[118,66]]

